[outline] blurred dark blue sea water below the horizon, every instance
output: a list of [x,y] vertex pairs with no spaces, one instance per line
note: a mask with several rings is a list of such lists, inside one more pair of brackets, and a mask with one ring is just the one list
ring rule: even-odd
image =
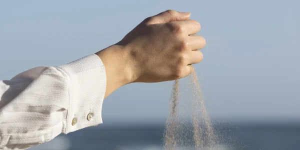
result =
[[[300,124],[218,124],[218,150],[300,149]],[[31,147],[29,150],[160,150],[164,125],[103,125],[87,127]],[[192,137],[192,136],[191,136]],[[193,147],[177,147],[193,149]],[[204,150],[204,149],[203,149]]]

